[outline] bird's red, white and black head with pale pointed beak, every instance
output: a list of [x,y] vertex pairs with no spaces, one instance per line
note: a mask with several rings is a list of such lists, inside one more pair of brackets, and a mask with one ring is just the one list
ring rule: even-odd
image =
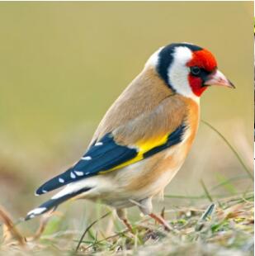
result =
[[211,85],[234,88],[218,69],[214,55],[197,45],[167,45],[149,58],[150,64],[169,88],[186,97],[200,97]]

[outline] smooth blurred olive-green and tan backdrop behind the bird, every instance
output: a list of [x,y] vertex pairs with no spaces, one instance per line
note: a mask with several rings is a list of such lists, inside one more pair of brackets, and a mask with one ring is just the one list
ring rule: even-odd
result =
[[[205,92],[201,118],[253,168],[253,2],[1,2],[0,35],[0,203],[12,215],[45,200],[34,197],[35,188],[83,154],[107,108],[149,55],[171,42],[211,50],[236,85]],[[243,192],[252,183],[201,124],[167,193],[201,195],[201,178],[210,188],[239,176],[212,193]]]

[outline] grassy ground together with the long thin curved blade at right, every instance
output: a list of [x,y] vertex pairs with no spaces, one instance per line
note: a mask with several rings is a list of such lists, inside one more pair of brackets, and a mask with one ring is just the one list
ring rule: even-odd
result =
[[[161,211],[172,226],[170,232],[147,216],[132,222],[133,234],[122,230],[115,214],[112,211],[103,214],[102,205],[98,203],[95,219],[86,223],[84,231],[81,225],[78,229],[71,228],[70,220],[55,211],[43,216],[37,230],[30,231],[31,235],[23,235],[19,227],[23,221],[15,223],[12,216],[0,208],[1,252],[10,255],[253,255],[254,195],[248,191],[237,192],[233,184],[239,179],[250,179],[252,174],[229,141],[214,127],[209,127],[229,145],[245,175],[225,178],[219,174],[219,183],[214,187],[207,187],[201,180],[204,191],[201,196],[165,195],[192,201],[192,206],[172,206]],[[217,193],[222,187],[231,197]]]

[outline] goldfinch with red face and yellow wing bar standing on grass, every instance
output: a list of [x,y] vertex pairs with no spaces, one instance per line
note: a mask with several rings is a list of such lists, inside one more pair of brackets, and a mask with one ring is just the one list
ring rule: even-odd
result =
[[126,209],[131,206],[170,230],[153,213],[152,199],[163,195],[187,158],[200,121],[200,97],[213,85],[234,88],[210,50],[191,43],[156,50],[106,111],[78,162],[35,195],[62,189],[25,220],[64,201],[87,199],[111,206],[130,231]]

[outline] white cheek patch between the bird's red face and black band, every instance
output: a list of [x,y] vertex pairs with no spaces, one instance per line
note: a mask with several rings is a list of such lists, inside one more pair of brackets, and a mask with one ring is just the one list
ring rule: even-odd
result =
[[189,68],[187,62],[192,59],[192,52],[185,46],[179,46],[176,48],[173,54],[172,65],[168,69],[168,79],[172,88],[185,97],[191,97],[196,102],[199,102],[197,97],[191,90],[188,75]]

